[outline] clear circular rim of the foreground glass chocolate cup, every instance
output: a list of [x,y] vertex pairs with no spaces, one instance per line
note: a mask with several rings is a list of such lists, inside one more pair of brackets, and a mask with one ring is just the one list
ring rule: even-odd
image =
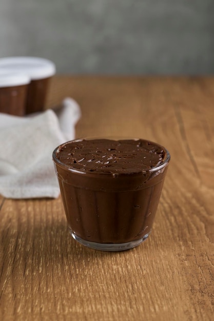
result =
[[[70,165],[67,165],[67,164],[64,164],[63,162],[61,162],[57,157],[56,157],[56,153],[57,151],[64,145],[68,144],[68,143],[74,143],[74,142],[82,142],[84,140],[90,140],[90,139],[114,139],[115,141],[119,141],[119,140],[125,140],[125,139],[132,139],[132,140],[135,140],[135,141],[138,141],[139,139],[143,140],[143,141],[147,141],[149,143],[153,143],[161,148],[163,148],[164,152],[166,153],[166,156],[165,156],[165,159],[163,160],[163,162],[157,166],[154,166],[152,168],[149,168],[149,169],[143,169],[143,170],[139,170],[139,171],[136,171],[136,172],[125,172],[125,173],[112,173],[112,172],[96,172],[96,171],[84,171],[84,170],[81,170],[81,169],[77,169],[77,168],[72,168]],[[52,153],[52,159],[54,161],[54,163],[56,163],[57,165],[60,165],[61,167],[63,168],[66,168],[67,170],[69,170],[70,172],[73,172],[73,173],[77,173],[77,174],[89,174],[89,175],[93,175],[93,176],[98,176],[98,175],[105,175],[105,176],[127,176],[127,175],[139,175],[139,174],[145,174],[145,173],[153,173],[153,172],[157,172],[159,170],[161,170],[162,168],[166,167],[169,163],[169,160],[170,160],[171,156],[170,156],[170,153],[169,151],[163,146],[163,145],[160,145],[158,143],[155,143],[153,141],[150,141],[149,139],[143,139],[143,138],[136,138],[136,137],[110,137],[110,136],[106,136],[106,137],[82,137],[82,138],[75,138],[75,139],[72,139],[71,141],[67,141],[63,144],[60,144],[59,146],[57,146],[54,150],[53,150],[53,153]]]

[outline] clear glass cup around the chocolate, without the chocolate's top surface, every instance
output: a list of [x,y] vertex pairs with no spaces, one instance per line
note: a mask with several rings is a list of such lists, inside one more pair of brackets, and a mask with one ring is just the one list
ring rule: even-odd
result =
[[[81,139],[73,142],[78,141]],[[68,143],[53,151],[53,162],[73,238],[103,251],[122,251],[141,244],[152,229],[169,152],[155,143],[164,151],[163,162],[137,173],[86,172],[69,167],[57,157]]]

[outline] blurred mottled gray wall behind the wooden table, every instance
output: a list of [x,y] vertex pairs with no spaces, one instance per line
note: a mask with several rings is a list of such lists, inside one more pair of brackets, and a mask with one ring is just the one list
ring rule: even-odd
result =
[[58,73],[212,74],[213,0],[0,0],[0,57]]

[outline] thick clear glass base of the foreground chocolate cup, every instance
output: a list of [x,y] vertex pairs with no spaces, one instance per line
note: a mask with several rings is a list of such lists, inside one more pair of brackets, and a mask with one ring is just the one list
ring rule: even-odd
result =
[[82,239],[81,237],[75,235],[73,232],[70,232],[72,237],[77,240],[77,242],[81,243],[84,246],[87,246],[94,250],[100,250],[100,251],[125,251],[134,248],[135,246],[140,245],[142,242],[144,242],[148,236],[149,233],[145,234],[142,238],[133,240],[131,242],[127,243],[96,243],[96,242],[90,242],[88,240]]

